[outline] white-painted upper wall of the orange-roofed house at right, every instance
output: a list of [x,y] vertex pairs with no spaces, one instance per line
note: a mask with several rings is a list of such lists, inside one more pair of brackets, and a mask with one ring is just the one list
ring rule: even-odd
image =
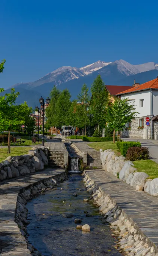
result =
[[[157,94],[158,94],[158,91],[157,91]],[[137,111],[139,113],[139,114],[137,114],[137,117],[150,116],[150,98],[151,98],[150,90],[136,91],[134,93],[123,94],[123,95],[121,95],[121,99],[123,99],[123,98],[128,98],[129,100],[133,100],[133,105],[135,105],[135,109],[136,109],[135,111]],[[141,99],[144,99],[144,107],[140,107]],[[157,104],[158,104],[158,96],[155,97],[154,102],[156,102],[156,99],[157,99]],[[157,108],[157,110],[158,110],[158,108]]]

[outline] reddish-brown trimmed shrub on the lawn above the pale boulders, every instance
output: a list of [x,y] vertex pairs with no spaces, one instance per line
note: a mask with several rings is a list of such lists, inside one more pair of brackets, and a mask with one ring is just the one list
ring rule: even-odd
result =
[[149,159],[149,148],[146,147],[131,147],[128,149],[126,159],[131,161]]

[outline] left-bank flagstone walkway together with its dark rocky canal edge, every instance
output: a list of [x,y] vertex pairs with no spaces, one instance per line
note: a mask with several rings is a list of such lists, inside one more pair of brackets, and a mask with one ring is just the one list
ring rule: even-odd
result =
[[65,170],[49,169],[28,174],[0,186],[0,255],[39,256],[42,255],[29,244],[27,235],[27,201],[55,189],[57,183],[67,178]]

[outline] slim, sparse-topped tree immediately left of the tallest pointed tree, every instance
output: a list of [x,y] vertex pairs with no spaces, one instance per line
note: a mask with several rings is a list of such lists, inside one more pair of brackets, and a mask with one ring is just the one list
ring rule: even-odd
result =
[[90,102],[90,93],[86,84],[82,86],[81,94],[77,98],[81,102],[81,105],[77,105],[79,126],[84,127],[86,136],[86,126],[89,124],[88,106]]

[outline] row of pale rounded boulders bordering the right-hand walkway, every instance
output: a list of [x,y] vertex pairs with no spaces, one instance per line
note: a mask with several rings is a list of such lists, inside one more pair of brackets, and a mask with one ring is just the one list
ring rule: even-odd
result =
[[105,171],[119,176],[120,180],[130,184],[135,190],[144,190],[149,195],[158,196],[158,178],[151,180],[145,172],[137,172],[137,169],[133,167],[134,164],[126,161],[123,155],[118,157],[112,149],[105,151],[100,149],[100,159]]

